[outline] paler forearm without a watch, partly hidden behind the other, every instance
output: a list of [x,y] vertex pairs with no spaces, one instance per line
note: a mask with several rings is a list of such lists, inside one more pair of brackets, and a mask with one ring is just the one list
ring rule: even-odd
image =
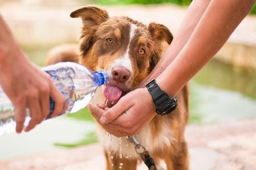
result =
[[[187,13],[180,24],[180,27],[174,36],[172,44],[167,49],[164,56],[160,59],[155,69],[152,70],[151,74],[141,83],[141,87],[144,87],[148,81],[159,76],[164,69],[174,60],[179,54],[180,50],[188,41],[201,16],[204,14],[205,9],[209,5],[210,0],[194,0],[189,6]],[[191,16],[193,16],[191,18]]]

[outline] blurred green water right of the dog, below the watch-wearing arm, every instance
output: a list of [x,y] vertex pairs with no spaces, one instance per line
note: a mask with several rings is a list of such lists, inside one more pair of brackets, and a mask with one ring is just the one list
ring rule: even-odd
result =
[[191,122],[229,122],[256,117],[256,74],[210,61],[191,82]]

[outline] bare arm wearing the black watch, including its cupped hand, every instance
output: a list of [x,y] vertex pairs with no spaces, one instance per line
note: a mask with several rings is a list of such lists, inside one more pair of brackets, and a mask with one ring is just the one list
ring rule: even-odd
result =
[[[217,53],[241,20],[245,18],[254,2],[251,0],[212,0],[174,61],[168,65],[166,70],[163,67],[162,74],[160,74],[162,71],[158,71],[152,76],[152,78],[156,78],[162,90],[170,96],[175,96],[188,80]],[[172,55],[171,53],[171,51],[167,52],[165,56],[168,57]],[[156,67],[156,69],[159,68]],[[145,95],[137,95],[140,93]],[[142,109],[142,104],[151,108],[150,111]],[[101,124],[105,127],[113,124],[122,126],[122,128],[109,126],[109,129],[121,131],[123,135],[138,133],[144,127],[145,122],[150,121],[155,116],[155,107],[152,106],[154,103],[147,89],[139,88],[137,93],[132,91],[123,96],[114,107],[104,112],[101,116]],[[98,113],[92,112],[93,114]],[[144,120],[141,121],[137,118],[138,115]],[[127,118],[127,116],[129,117]]]

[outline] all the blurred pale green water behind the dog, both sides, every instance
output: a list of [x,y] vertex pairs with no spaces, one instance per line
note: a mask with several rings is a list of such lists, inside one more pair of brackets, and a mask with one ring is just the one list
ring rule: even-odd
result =
[[[50,48],[23,49],[32,61],[44,66]],[[213,59],[190,82],[189,124],[256,117],[255,90],[256,73],[235,71],[231,65]],[[0,160],[97,142],[95,129],[93,118],[85,108],[43,122],[31,133],[0,137]]]

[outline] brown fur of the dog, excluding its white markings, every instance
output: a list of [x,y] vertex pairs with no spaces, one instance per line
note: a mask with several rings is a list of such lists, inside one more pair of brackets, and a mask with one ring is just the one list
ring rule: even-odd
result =
[[[146,53],[144,54],[138,54],[137,50],[131,52],[130,56],[133,57],[130,59],[133,72],[129,81],[119,87],[123,91],[129,91],[138,86],[154,69],[165,52],[166,49],[163,48],[163,44],[166,42],[171,44],[173,39],[171,32],[164,25],[150,23],[146,26],[127,17],[110,18],[107,11],[93,6],[79,8],[71,13],[71,17],[82,18],[84,26],[81,31],[78,58],[79,63],[92,70],[109,70],[113,61],[125,53],[127,43],[133,45],[135,49],[142,48],[145,50]],[[135,25],[137,31],[133,40],[127,42],[128,39],[123,35],[127,35],[131,29],[127,25],[131,24]],[[115,46],[110,45],[105,41],[107,37],[112,37],[113,41],[120,43],[115,43]],[[75,54],[73,50],[71,51]],[[56,56],[56,54],[51,55],[47,64],[60,62],[60,58],[54,59]],[[75,58],[74,56],[74,62],[76,62]],[[142,130],[137,137],[150,141],[150,145],[145,147],[150,151],[156,164],[160,162],[160,159],[163,159],[169,170],[187,170],[189,169],[188,147],[184,139],[184,129],[188,120],[188,86],[179,92],[177,98],[179,105],[174,112],[167,116],[155,116],[148,125],[151,133],[142,135],[144,133]],[[164,131],[169,132],[168,130],[171,131],[171,134],[164,136],[166,134]],[[101,131],[104,130],[101,129]],[[169,142],[161,141],[166,138],[170,139]],[[143,141],[139,142],[143,144]],[[163,145],[155,146],[155,143],[162,143]],[[119,159],[118,152],[114,152],[114,159],[110,159],[106,147],[105,155],[108,170],[118,169],[119,162],[123,163],[122,169],[136,169],[139,160],[136,156],[131,159]],[[112,163],[114,163],[114,167],[112,167]]]

